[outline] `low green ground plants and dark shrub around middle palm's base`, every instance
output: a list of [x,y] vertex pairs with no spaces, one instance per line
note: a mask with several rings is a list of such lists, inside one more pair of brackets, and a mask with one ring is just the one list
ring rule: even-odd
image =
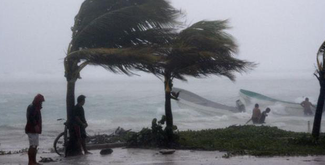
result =
[[[129,147],[162,147],[157,145],[150,129],[143,129],[134,137],[140,140]],[[306,156],[325,155],[325,134],[318,140],[310,133],[290,132],[269,126],[230,126],[225,129],[176,132],[173,148],[226,151],[233,155],[254,156]],[[132,139],[131,138],[131,139]],[[133,139],[134,140],[134,139]],[[130,142],[130,141],[129,141]],[[133,141],[134,142],[134,141]],[[145,143],[144,143],[145,142]]]

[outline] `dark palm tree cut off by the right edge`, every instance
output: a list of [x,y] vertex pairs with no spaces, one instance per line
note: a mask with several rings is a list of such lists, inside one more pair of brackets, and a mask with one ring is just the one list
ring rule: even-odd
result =
[[318,75],[316,73],[314,74],[321,86],[318,101],[317,101],[315,117],[314,117],[314,124],[312,127],[312,136],[315,138],[319,137],[322,115],[323,115],[324,100],[325,100],[325,70],[324,69],[325,69],[325,41],[318,49],[317,69],[316,69]]

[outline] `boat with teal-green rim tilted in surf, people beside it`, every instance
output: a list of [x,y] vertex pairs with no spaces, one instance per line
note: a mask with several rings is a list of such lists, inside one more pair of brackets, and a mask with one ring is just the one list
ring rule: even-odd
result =
[[[261,95],[259,93],[252,92],[249,90],[244,90],[244,89],[241,89],[239,91],[239,96],[241,100],[243,100],[246,106],[254,105],[255,103],[258,103],[262,108],[278,105],[275,111],[272,111],[271,108],[271,112],[276,115],[294,115],[294,116],[304,115],[304,108],[299,103],[273,99]],[[315,109],[313,107],[311,107],[311,110],[313,111],[313,113],[315,113]]]

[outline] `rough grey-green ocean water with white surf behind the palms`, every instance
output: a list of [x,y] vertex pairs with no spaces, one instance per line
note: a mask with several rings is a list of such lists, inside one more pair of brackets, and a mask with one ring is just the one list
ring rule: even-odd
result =
[[[301,102],[304,97],[316,103],[319,84],[316,79],[238,79],[231,82],[223,78],[190,79],[188,82],[174,82],[175,87],[194,92],[206,99],[235,106],[239,99],[239,89],[255,91],[266,96],[292,102]],[[24,133],[26,108],[33,97],[41,93],[43,103],[43,133],[40,136],[40,148],[48,150],[55,137],[63,131],[66,118],[65,94],[66,82],[0,82],[0,150],[16,150],[28,147],[28,138]],[[76,84],[76,96],[83,94],[85,116],[89,123],[87,132],[111,133],[117,127],[139,131],[150,127],[153,118],[164,114],[163,83],[156,78],[123,78],[112,80],[86,81]],[[280,111],[275,106],[273,111]],[[172,100],[174,124],[179,130],[200,130],[225,128],[230,125],[244,125],[251,116],[252,107],[246,107],[246,113],[230,115],[205,115],[195,109],[183,109]],[[263,110],[263,109],[261,109]],[[266,125],[280,129],[307,132],[308,121],[313,117],[279,116],[271,114]],[[322,132],[325,131],[322,121]]]

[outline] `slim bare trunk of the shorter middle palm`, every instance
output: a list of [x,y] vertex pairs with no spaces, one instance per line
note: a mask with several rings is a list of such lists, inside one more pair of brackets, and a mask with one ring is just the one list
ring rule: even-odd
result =
[[173,114],[171,106],[171,76],[170,73],[165,73],[165,115],[166,115],[166,128],[165,131],[168,140],[171,141],[173,137]]

